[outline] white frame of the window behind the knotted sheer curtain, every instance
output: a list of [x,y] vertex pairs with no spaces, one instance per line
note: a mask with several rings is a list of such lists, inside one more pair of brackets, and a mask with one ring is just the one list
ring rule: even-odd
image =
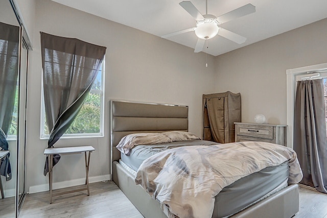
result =
[[[91,89],[90,93],[99,93],[100,96],[100,132],[99,133],[78,133],[78,134],[63,134],[61,138],[96,138],[104,137],[104,95],[105,95],[105,56],[101,63],[101,90]],[[44,133],[45,121],[45,106],[43,93],[43,72],[41,77],[41,118],[40,118],[40,139],[49,139],[50,135]]]

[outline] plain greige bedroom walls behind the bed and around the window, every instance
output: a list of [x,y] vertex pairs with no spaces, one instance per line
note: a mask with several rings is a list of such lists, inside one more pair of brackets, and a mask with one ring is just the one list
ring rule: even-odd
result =
[[[32,1],[32,0],[31,0]],[[33,51],[30,53],[27,114],[27,190],[44,190],[44,148],[39,139],[41,54],[39,32],[106,46],[105,136],[60,139],[57,146],[91,144],[89,176],[109,174],[110,99],[188,105],[190,131],[201,135],[202,94],[240,92],[242,122],[263,113],[268,123],[286,124],[286,69],[327,62],[327,19],[283,33],[218,57],[99,18],[50,0],[35,1]],[[28,9],[27,9],[28,10]],[[29,11],[22,13],[28,14]],[[28,15],[33,17],[32,15]],[[84,177],[82,155],[63,156],[54,168],[54,182],[74,185]]]

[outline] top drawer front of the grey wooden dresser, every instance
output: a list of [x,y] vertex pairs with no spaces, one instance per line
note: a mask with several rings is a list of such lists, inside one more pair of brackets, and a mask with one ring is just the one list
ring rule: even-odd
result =
[[273,127],[270,126],[242,125],[237,128],[238,135],[273,139]]

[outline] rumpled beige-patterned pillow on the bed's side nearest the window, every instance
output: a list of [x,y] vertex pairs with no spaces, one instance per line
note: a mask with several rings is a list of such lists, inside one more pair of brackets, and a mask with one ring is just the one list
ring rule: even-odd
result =
[[160,133],[133,133],[124,136],[116,148],[125,155],[129,155],[131,149],[138,144],[159,144],[170,142],[172,142],[170,138]]

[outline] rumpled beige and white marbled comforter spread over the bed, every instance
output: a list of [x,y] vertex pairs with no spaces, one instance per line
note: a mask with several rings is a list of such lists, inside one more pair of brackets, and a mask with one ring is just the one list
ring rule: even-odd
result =
[[289,183],[302,171],[296,153],[268,142],[186,146],[160,152],[138,168],[135,183],[176,216],[212,217],[215,196],[231,183],[268,166],[289,162]]

